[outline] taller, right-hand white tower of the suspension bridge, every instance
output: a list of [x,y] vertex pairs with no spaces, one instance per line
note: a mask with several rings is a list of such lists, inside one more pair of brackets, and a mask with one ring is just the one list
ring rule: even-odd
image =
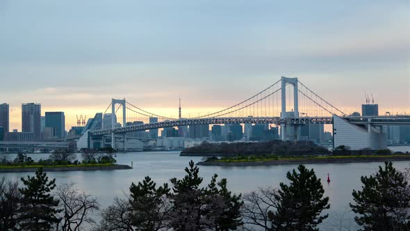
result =
[[[284,118],[299,118],[299,92],[297,88],[297,78],[281,77],[281,119]],[[286,85],[291,84],[293,86],[293,111],[286,111]],[[293,126],[295,140],[299,129],[297,126]],[[281,140],[286,141],[286,123],[281,123]]]

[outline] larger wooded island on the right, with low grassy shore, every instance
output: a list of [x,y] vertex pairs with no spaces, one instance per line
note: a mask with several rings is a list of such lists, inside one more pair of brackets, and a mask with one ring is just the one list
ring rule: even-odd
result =
[[204,166],[261,166],[281,164],[330,164],[374,161],[410,161],[410,154],[391,150],[327,150],[311,141],[208,143],[186,148],[181,156],[205,157]]

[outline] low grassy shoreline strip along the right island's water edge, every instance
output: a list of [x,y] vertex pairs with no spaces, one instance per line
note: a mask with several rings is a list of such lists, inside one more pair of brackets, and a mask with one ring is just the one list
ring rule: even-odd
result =
[[272,161],[200,161],[198,166],[278,166],[287,164],[349,164],[381,161],[410,161],[410,155],[401,157],[345,157],[326,159],[285,159]]

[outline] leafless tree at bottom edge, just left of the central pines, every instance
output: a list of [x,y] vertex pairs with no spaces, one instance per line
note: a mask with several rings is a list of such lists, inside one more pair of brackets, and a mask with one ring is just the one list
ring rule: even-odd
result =
[[95,231],[133,231],[129,200],[115,198],[114,204],[101,212],[101,223]]

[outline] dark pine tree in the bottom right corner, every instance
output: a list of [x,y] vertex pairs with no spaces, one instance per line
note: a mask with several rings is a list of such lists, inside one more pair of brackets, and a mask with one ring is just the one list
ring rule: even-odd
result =
[[391,162],[370,177],[362,176],[361,191],[352,193],[354,219],[363,230],[410,230],[410,186]]

